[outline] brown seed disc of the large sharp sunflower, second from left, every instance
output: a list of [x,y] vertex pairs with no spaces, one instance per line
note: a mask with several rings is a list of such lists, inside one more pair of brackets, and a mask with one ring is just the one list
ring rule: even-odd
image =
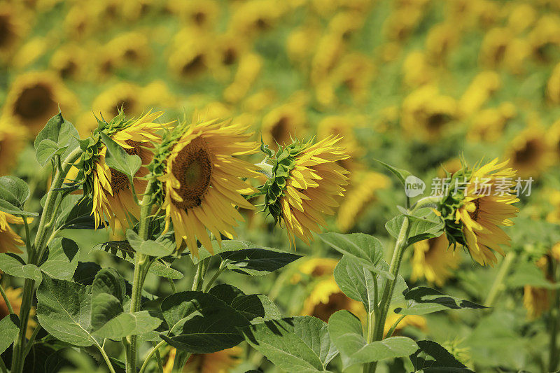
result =
[[200,137],[190,141],[177,154],[172,172],[181,183],[181,188],[176,189],[176,192],[183,199],[182,202],[173,201],[175,206],[180,209],[199,206],[212,176],[211,153],[206,141]]

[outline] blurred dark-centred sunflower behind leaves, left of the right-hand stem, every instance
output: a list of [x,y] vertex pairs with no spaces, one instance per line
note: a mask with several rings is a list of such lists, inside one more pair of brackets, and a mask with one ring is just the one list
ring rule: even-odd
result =
[[303,303],[301,314],[320,318],[326,323],[332,314],[341,309],[347,309],[365,320],[365,309],[361,302],[346,297],[331,275],[315,284]]

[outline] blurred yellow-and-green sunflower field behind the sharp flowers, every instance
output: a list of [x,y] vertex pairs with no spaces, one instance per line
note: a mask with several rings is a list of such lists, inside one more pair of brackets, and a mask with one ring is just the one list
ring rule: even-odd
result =
[[[560,276],[560,1],[0,0],[0,174],[30,183],[30,209],[48,181],[31,142],[59,108],[83,136],[97,126],[94,114],[109,119],[119,108],[232,118],[273,148],[290,136],[342,134],[351,183],[328,229],[375,234],[386,246],[384,222],[404,197],[376,159],[411,171],[426,193],[460,156],[510,159],[534,182],[509,231],[507,260],[481,268],[435,240],[410,248],[403,269],[409,284],[493,308],[409,316],[398,332],[443,344],[476,372],[547,371],[560,304],[552,290]],[[244,213],[241,239],[288,248],[281,229]],[[130,274],[126,261],[91,250],[118,234],[68,234],[84,262]],[[363,312],[332,277],[338,255],[317,242],[297,251],[307,258],[279,274],[227,279],[269,294],[285,315],[326,321],[337,309]],[[191,267],[174,264],[185,274],[179,290]],[[3,281],[16,299],[18,283]],[[146,286],[171,291],[155,276]],[[188,369],[256,367],[276,369],[241,344],[197,356]],[[382,369],[405,371],[400,360]]]

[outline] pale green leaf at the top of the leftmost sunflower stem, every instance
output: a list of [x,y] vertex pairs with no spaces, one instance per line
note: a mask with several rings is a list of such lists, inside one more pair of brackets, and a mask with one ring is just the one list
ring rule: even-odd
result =
[[41,132],[37,134],[34,141],[37,161],[41,166],[45,164],[55,155],[70,153],[71,150],[78,147],[78,139],[80,135],[76,127],[71,122],[64,120],[62,114],[58,113],[48,120],[47,124]]

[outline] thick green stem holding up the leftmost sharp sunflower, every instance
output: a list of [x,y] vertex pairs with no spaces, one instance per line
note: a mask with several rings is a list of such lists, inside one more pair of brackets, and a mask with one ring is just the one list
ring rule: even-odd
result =
[[[41,220],[39,220],[39,225],[33,245],[31,245],[27,221],[26,219],[24,219],[26,223],[26,241],[29,255],[29,264],[36,265],[41,260],[41,258],[43,258],[43,254],[45,253],[46,248],[46,238],[48,237],[50,225],[52,224],[52,217],[55,215],[57,207],[59,206],[56,204],[57,197],[60,192],[59,188],[62,187],[64,179],[72,168],[73,163],[76,162],[76,160],[78,160],[81,155],[82,150],[80,148],[76,148],[72,150],[72,152],[66,157],[64,162],[62,162],[62,166],[56,167],[57,171],[55,172],[55,176],[52,178],[50,189],[47,192],[45,207],[43,209],[43,213],[41,214]],[[54,168],[55,167],[53,166],[53,171]],[[26,351],[26,349],[24,349],[25,333],[27,332],[27,321],[29,319],[29,311],[31,311],[31,302],[33,302],[34,288],[35,281],[31,279],[25,279],[25,283],[23,286],[22,305],[19,315],[20,332],[18,333],[18,337],[16,337],[13,345],[13,358],[11,367],[12,373],[21,373],[23,370],[23,361],[25,360]]]

